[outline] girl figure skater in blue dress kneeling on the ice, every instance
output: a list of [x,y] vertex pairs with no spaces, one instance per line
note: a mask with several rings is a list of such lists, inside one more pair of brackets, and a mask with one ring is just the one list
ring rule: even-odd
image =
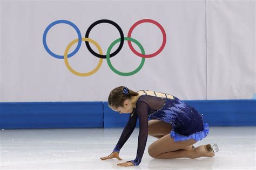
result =
[[139,165],[146,146],[147,135],[158,138],[148,148],[149,155],[156,159],[213,157],[218,152],[217,144],[194,147],[198,140],[209,132],[208,124],[193,107],[170,94],[150,90],[137,93],[123,86],[111,90],[109,107],[120,114],[130,114],[113,152],[100,159],[119,157],[119,151],[131,136],[139,118],[139,137],[136,159],[119,163],[119,166]]

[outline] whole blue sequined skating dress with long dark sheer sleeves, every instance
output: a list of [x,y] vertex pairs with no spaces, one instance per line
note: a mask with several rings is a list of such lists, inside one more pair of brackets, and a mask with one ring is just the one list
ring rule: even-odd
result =
[[[156,92],[148,95],[148,90],[142,90],[144,94],[139,96],[136,102],[136,109],[130,114],[120,139],[113,152],[119,152],[126,140],[131,136],[139,118],[139,138],[136,159],[130,161],[134,165],[139,165],[142,161],[143,153],[147,141],[148,121],[158,119],[172,125],[170,137],[174,141],[194,139],[196,141],[205,138],[209,132],[208,124],[203,121],[203,117],[193,107],[180,101],[177,97],[164,94],[166,97],[159,97]],[[171,96],[171,97],[170,97]]]

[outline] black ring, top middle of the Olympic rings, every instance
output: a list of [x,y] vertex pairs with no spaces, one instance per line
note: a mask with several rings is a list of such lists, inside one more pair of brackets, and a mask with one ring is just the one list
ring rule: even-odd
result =
[[[117,48],[116,51],[114,51],[113,53],[110,54],[110,58],[114,55],[116,55],[117,53],[119,53],[119,51],[122,49],[123,45],[124,45],[124,33],[122,31],[122,29],[120,28],[119,25],[117,25],[117,23],[113,22],[112,20],[108,20],[108,19],[100,19],[100,20],[97,20],[96,22],[94,22],[92,25],[89,26],[88,30],[86,31],[85,33],[85,38],[89,38],[89,33],[90,31],[92,30],[92,28],[100,23],[109,23],[111,25],[113,25],[114,27],[117,28],[117,30],[119,31],[120,33],[120,37],[121,37],[121,40],[120,40],[120,44]],[[90,44],[88,41],[85,41],[85,45],[86,47],[88,48],[88,50],[95,56],[97,56],[98,58],[101,58],[101,59],[105,59],[106,58],[106,55],[101,55],[101,54],[98,54],[96,53],[95,51],[92,50],[92,48],[90,47]]]

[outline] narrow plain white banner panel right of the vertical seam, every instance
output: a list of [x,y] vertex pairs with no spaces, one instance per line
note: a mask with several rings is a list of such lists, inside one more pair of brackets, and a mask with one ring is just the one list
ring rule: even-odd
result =
[[207,1],[207,98],[256,94],[255,1]]

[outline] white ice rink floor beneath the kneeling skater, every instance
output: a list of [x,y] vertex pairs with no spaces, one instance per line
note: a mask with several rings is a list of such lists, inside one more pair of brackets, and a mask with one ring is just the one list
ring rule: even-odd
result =
[[0,169],[256,169],[256,126],[211,127],[208,137],[194,146],[217,143],[220,151],[212,158],[153,159],[147,139],[139,166],[119,167],[137,152],[138,128],[120,151],[123,159],[100,160],[116,145],[122,128],[32,129],[0,131]]

